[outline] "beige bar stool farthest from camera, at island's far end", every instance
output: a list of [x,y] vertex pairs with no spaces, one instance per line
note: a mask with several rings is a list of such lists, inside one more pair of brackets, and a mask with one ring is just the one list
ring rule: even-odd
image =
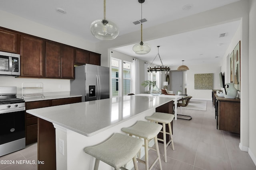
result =
[[[172,150],[174,150],[174,144],[172,139],[172,128],[171,128],[171,122],[174,118],[174,115],[169,113],[156,112],[152,116],[145,117],[145,118],[150,120],[151,122],[162,123],[163,131],[160,131],[160,132],[163,133],[164,139],[158,138],[158,141],[164,142],[164,162],[167,162],[166,147],[170,143],[172,143]],[[169,132],[166,132],[166,124],[168,124]],[[168,141],[168,143],[166,143],[166,134],[170,135],[170,140]]]

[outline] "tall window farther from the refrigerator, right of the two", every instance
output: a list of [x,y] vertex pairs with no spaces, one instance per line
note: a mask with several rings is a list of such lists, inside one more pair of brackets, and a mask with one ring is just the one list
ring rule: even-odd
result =
[[123,63],[123,95],[131,91],[131,63]]

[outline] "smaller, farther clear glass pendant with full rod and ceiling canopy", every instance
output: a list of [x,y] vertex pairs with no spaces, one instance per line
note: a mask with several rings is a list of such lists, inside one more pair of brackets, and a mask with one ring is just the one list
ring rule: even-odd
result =
[[147,43],[143,43],[142,41],[142,3],[145,2],[145,0],[138,0],[138,2],[141,4],[141,24],[140,24],[140,43],[135,44],[132,47],[132,50],[134,51],[134,53],[136,54],[148,54],[151,50],[150,45],[148,45]]

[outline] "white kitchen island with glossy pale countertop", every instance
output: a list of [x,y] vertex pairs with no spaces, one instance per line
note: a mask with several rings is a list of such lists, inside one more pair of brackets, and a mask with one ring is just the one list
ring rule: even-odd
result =
[[[129,127],[138,120],[146,121],[145,117],[152,115],[156,108],[161,111],[162,106],[168,106],[170,109],[172,100],[133,95],[30,109],[27,112],[54,125],[57,170],[93,170],[94,158],[84,152],[85,147],[101,143],[113,133],[122,133],[122,127]],[[112,168],[100,162],[99,169]]]

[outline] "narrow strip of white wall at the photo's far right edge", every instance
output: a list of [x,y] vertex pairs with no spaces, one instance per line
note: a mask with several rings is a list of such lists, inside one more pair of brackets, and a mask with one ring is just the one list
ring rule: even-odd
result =
[[249,14],[249,149],[254,164],[256,164],[256,1],[250,0],[250,14]]

